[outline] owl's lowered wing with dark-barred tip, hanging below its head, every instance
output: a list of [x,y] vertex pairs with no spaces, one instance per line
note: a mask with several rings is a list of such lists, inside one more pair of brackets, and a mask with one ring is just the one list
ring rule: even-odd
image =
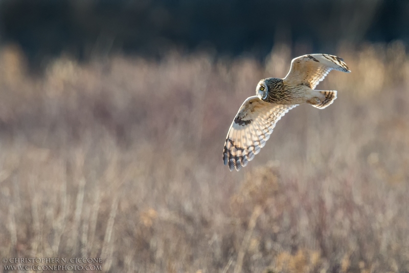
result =
[[223,162],[230,171],[247,165],[260,152],[277,121],[295,105],[278,105],[257,96],[247,98],[234,118],[224,142]]

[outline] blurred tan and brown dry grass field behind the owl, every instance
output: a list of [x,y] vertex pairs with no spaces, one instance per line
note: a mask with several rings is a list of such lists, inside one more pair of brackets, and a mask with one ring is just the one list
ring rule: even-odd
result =
[[286,75],[285,45],[263,63],[61,56],[40,76],[3,47],[0,257],[101,257],[109,272],[409,272],[409,55],[398,41],[328,53],[352,71],[319,85],[336,101],[291,110],[237,173],[222,163],[225,135],[259,79]]

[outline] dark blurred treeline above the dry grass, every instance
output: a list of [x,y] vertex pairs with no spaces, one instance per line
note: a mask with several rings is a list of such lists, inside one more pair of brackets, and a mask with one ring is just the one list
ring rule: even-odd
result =
[[277,41],[333,52],[339,41],[409,41],[409,1],[0,0],[0,42],[32,65],[62,52],[78,59],[169,48],[246,52],[262,58]]

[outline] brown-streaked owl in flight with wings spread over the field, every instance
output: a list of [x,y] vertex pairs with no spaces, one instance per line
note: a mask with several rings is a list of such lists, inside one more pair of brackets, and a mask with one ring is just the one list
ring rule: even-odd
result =
[[277,121],[298,104],[324,109],[334,102],[336,91],[314,90],[333,69],[351,72],[339,57],[310,54],[293,59],[284,79],[260,80],[256,96],[243,102],[227,133],[224,165],[229,165],[230,171],[247,165],[263,148]]

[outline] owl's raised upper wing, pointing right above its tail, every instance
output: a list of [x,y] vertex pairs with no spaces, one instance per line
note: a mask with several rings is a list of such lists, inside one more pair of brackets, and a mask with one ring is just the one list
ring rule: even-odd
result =
[[284,81],[289,85],[305,85],[315,89],[331,70],[351,72],[342,58],[327,54],[311,54],[295,58]]

